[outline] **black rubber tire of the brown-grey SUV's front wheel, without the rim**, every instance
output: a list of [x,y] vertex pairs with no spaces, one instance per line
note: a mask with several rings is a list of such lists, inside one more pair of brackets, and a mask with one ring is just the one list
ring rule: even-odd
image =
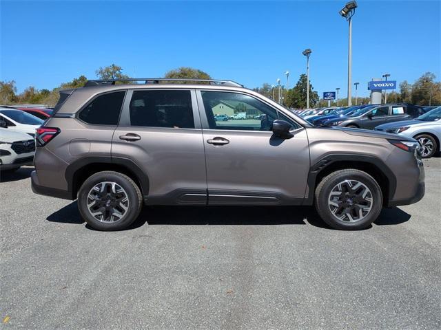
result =
[[[371,192],[371,209],[369,212],[367,212],[364,218],[355,222],[338,219],[331,212],[331,206],[329,206],[328,203],[331,190],[336,188],[339,183],[345,180],[359,181],[367,186]],[[316,188],[315,197],[316,209],[323,221],[325,221],[325,223],[330,225],[332,228],[340,230],[360,230],[367,228],[378,218],[378,215],[382,209],[382,192],[377,181],[373,179],[371,175],[363,172],[362,170],[352,168],[346,170],[337,170],[336,172],[329,174],[327,177],[324,177]],[[353,202],[351,199],[350,203],[355,203],[355,201]]]

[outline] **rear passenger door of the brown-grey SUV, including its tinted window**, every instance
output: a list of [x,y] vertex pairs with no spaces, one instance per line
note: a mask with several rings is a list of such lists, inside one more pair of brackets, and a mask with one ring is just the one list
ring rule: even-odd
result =
[[129,158],[147,175],[147,203],[205,204],[205,154],[194,90],[127,91],[112,140],[114,157]]

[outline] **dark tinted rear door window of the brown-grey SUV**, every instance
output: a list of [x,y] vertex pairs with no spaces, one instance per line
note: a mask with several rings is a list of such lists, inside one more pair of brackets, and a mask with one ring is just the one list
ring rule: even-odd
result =
[[134,91],[130,100],[132,126],[194,129],[190,91]]

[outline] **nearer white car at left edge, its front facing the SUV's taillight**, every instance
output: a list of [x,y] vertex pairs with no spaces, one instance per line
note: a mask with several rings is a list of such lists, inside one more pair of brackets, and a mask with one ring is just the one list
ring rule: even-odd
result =
[[34,162],[35,141],[28,134],[0,128],[0,171]]

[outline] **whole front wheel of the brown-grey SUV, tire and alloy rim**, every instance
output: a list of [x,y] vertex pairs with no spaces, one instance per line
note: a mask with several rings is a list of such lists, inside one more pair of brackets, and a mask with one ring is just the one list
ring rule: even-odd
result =
[[382,208],[380,186],[362,170],[337,170],[316,188],[316,208],[332,228],[360,230],[378,218]]

